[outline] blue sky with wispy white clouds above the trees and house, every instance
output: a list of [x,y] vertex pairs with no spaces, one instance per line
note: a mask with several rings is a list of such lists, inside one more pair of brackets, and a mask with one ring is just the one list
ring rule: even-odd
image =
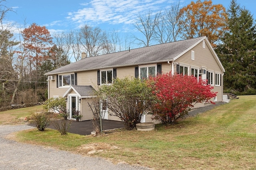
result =
[[[194,0],[195,2],[196,0]],[[120,32],[134,33],[132,26],[138,13],[148,10],[164,10],[177,0],[6,0],[7,7],[16,13],[9,12],[6,18],[27,26],[36,23],[46,26],[53,33],[78,29],[87,24],[97,26],[105,31],[112,29]],[[186,6],[191,0],[181,0]],[[230,0],[212,0],[213,4],[222,4],[228,9]],[[250,10],[256,19],[255,0],[237,0],[240,6]]]

